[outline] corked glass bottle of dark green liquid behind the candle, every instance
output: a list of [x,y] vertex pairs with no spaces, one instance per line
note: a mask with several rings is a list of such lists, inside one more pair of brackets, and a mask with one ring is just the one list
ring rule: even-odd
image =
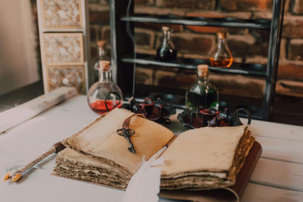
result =
[[219,93],[214,84],[208,80],[208,65],[198,65],[197,81],[185,94],[185,106],[188,110],[219,108]]

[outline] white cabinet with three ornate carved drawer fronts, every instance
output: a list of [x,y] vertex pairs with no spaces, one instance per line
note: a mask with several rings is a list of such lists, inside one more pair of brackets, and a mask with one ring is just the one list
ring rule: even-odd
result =
[[89,29],[85,0],[37,0],[45,93],[61,86],[88,89]]

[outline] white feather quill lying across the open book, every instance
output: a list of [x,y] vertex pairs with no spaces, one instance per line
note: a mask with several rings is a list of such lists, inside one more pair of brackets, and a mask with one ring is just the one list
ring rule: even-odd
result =
[[[132,176],[124,194],[123,202],[159,201],[161,168],[151,167],[164,165],[163,158],[158,158],[167,146],[154,154],[148,161],[144,160],[138,171]],[[157,159],[158,158],[158,159]]]

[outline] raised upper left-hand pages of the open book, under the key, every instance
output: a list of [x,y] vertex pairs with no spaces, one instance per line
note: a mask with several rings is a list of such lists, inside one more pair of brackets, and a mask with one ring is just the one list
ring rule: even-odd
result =
[[135,130],[131,141],[136,153],[128,151],[128,141],[116,133],[122,128],[126,118],[133,113],[128,110],[116,108],[103,114],[95,122],[62,143],[79,153],[102,160],[121,172],[130,176],[139,169],[142,157],[148,160],[153,154],[164,147],[174,134],[166,127],[135,116],[130,122],[130,129]]

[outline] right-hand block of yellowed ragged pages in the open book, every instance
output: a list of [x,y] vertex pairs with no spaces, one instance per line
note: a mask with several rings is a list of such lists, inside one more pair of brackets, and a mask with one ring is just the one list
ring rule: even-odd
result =
[[161,155],[161,188],[231,186],[255,140],[248,126],[204,127],[181,133]]

